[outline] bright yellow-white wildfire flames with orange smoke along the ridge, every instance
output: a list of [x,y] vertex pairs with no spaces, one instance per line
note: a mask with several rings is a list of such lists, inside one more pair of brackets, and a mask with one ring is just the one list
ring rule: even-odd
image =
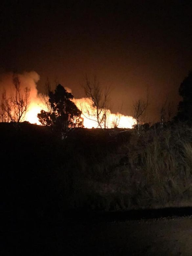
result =
[[[28,111],[25,115],[25,118],[23,121],[29,121],[30,123],[36,123],[40,125],[40,122],[37,118],[37,114],[40,113],[40,111],[43,109],[47,111],[46,104],[43,103],[42,95],[38,94],[36,83],[39,80],[39,75],[36,72],[25,72],[22,75],[19,75],[19,78],[21,80],[22,88],[25,88],[26,86],[31,88],[30,93],[30,99],[29,99],[29,107]],[[3,88],[3,85],[9,85],[6,86],[6,93],[11,94],[11,91],[13,90],[12,84],[11,84],[11,74],[1,77],[0,82],[0,89]],[[8,88],[8,90],[7,90]],[[21,89],[22,89],[21,88]],[[70,91],[69,88],[65,88],[67,91]],[[71,92],[71,91],[70,91]],[[97,128],[98,122],[96,115],[94,113],[93,107],[91,107],[88,103],[87,98],[80,98],[80,99],[74,99],[73,100],[76,106],[82,111],[81,117],[83,117],[84,122],[83,125],[85,128]],[[101,113],[102,115],[102,113]],[[113,114],[110,110],[106,111],[106,127],[107,128],[113,128],[113,127],[119,127],[119,128],[132,128],[132,126],[135,124],[135,119],[130,116],[123,116],[120,113]],[[104,124],[101,124],[102,127],[104,127]]]

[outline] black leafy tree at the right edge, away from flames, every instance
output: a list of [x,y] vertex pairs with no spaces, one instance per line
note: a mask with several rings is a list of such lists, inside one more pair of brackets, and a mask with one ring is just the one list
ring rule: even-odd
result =
[[179,95],[183,100],[179,102],[178,114],[174,119],[192,123],[192,71],[182,81]]

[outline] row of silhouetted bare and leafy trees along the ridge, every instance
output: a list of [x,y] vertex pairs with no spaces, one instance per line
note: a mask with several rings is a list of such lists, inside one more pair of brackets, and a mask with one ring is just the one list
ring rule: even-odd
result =
[[[24,91],[20,88],[19,76],[14,74],[12,77],[14,92],[11,96],[6,95],[6,90],[1,93],[0,99],[0,118],[1,122],[21,122],[24,120],[29,107],[30,88]],[[51,126],[62,133],[62,137],[69,130],[75,127],[83,127],[83,116],[94,120],[99,128],[109,128],[107,119],[110,114],[110,88],[102,88],[96,77],[93,80],[85,77],[84,92],[87,99],[86,104],[78,109],[73,102],[74,96],[67,92],[65,88],[58,84],[54,91],[50,89],[49,81],[46,83],[47,94],[43,95],[42,100],[46,110],[41,110],[37,115],[39,122],[45,126]],[[183,80],[179,88],[182,101],[178,105],[178,113],[172,118],[173,111],[170,102],[164,101],[160,109],[161,127],[170,121],[185,121],[191,123],[192,113],[192,72]],[[133,104],[134,127],[138,130],[145,123],[146,110],[149,105],[148,93],[146,99],[139,99]],[[88,106],[88,107],[87,107]],[[172,120],[171,120],[172,119]],[[113,127],[118,127],[119,117],[114,118]]]

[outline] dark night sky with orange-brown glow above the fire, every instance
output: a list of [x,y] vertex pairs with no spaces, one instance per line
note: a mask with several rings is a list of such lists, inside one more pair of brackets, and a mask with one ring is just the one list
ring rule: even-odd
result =
[[1,72],[34,70],[39,90],[49,76],[75,97],[84,75],[96,75],[123,114],[147,87],[151,119],[166,95],[177,105],[192,69],[192,1],[1,1],[0,9]]

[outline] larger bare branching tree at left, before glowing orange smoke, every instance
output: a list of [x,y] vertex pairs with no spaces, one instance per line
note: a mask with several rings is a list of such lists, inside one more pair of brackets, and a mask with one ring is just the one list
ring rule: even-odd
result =
[[30,88],[26,87],[22,92],[18,75],[14,74],[12,81],[15,91],[10,98],[5,99],[6,113],[9,121],[20,122],[25,117],[29,106]]

